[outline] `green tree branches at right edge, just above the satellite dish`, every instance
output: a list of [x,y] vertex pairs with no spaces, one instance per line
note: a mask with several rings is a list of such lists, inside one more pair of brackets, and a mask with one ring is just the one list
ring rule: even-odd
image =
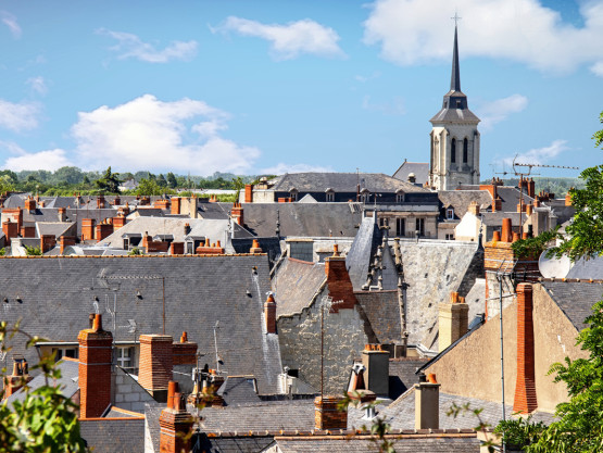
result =
[[[600,117],[603,123],[603,112]],[[603,144],[603,129],[593,136],[595,147]],[[583,189],[570,189],[571,204],[576,214],[565,228],[567,238],[555,249],[555,254],[567,254],[571,261],[603,255],[603,165],[580,173],[586,181]]]

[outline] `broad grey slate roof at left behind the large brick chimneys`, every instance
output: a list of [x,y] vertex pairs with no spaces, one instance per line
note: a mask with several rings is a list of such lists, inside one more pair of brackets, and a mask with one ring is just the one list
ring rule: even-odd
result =
[[[76,341],[87,328],[88,314],[103,314],[103,326],[116,340],[162,331],[165,278],[165,332],[183,330],[199,344],[215,368],[213,328],[222,369],[230,375],[254,375],[260,393],[276,393],[281,373],[277,336],[262,323],[271,289],[265,255],[219,256],[68,256],[0,259],[2,319],[22,319],[21,328],[52,341]],[[137,291],[141,298],[138,298]],[[22,302],[16,301],[20,297]],[[114,329],[113,312],[116,304]],[[14,340],[14,352],[36,363],[35,353]]]

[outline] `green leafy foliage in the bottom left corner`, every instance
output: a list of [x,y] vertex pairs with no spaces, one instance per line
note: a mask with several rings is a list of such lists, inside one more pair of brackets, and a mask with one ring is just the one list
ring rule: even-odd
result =
[[[0,344],[2,352],[9,352],[7,340],[22,334],[27,337],[27,348],[40,341],[18,329],[0,323]],[[24,381],[25,399],[13,402],[12,406],[0,404],[0,451],[27,453],[79,453],[88,451],[79,432],[77,405],[61,394],[61,388],[50,382],[59,379],[61,373],[54,364],[54,356],[39,357],[32,369],[41,370],[46,383],[30,390]],[[3,368],[1,374],[5,374]]]

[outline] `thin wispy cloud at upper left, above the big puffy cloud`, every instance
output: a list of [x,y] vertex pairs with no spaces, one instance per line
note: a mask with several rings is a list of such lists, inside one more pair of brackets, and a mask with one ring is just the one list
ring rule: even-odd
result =
[[167,63],[171,60],[191,60],[197,53],[197,41],[173,41],[163,50],[158,50],[149,42],[143,42],[138,36],[112,32],[104,28],[97,30],[98,34],[116,39],[117,45],[110,49],[117,53],[120,60],[137,59],[148,63]]

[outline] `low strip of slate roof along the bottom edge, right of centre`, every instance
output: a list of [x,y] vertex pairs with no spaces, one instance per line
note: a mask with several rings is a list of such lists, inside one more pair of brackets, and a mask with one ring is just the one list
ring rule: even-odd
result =
[[[453,437],[438,435],[432,437],[407,436],[388,437],[393,442],[398,453],[469,453],[479,452],[480,441],[474,437]],[[282,453],[367,453],[379,452],[379,445],[375,440],[367,437],[350,436],[339,439],[326,437],[282,437],[276,438],[276,443]]]

